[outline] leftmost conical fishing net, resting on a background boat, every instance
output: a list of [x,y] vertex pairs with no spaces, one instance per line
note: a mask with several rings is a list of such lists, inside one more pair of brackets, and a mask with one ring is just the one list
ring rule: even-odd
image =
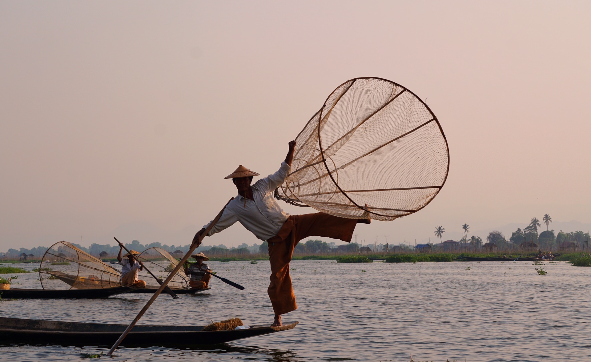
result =
[[54,243],[39,267],[43,289],[121,287],[121,272],[66,241]]

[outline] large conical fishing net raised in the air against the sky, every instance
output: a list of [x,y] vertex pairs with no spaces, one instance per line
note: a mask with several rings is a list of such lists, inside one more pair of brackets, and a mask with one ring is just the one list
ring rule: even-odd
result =
[[296,141],[275,197],[342,218],[391,221],[417,212],[449,170],[437,117],[413,92],[381,78],[337,87]]

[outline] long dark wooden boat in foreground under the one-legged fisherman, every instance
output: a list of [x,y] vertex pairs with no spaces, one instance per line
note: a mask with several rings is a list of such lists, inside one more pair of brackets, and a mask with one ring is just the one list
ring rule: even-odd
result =
[[[297,321],[281,327],[251,325],[231,331],[203,331],[203,325],[135,325],[122,345],[212,345],[242,338],[291,330]],[[4,343],[111,345],[127,327],[126,324],[59,322],[0,317],[0,340]],[[3,344],[4,344],[3,343]]]

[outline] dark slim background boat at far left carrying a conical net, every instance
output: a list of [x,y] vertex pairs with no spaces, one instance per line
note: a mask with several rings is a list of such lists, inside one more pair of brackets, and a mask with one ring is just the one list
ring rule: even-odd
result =
[[95,289],[24,289],[10,288],[0,291],[0,298],[57,299],[57,298],[107,298],[111,295],[134,291],[128,287]]

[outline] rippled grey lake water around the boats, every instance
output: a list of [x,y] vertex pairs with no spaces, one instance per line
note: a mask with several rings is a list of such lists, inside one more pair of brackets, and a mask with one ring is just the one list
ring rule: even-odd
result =
[[[272,322],[269,263],[209,262],[244,291],[212,279],[208,294],[159,297],[139,324]],[[337,264],[294,261],[293,330],[216,349],[120,348],[113,361],[591,361],[591,268],[545,262]],[[8,264],[5,264],[8,265]],[[18,264],[28,270],[38,264]],[[469,269],[467,269],[469,267]],[[365,272],[363,272],[365,270]],[[40,287],[38,274],[20,274]],[[2,317],[127,323],[150,298],[0,301]],[[125,343],[124,343],[125,344]],[[80,361],[108,347],[5,345],[2,361]]]

